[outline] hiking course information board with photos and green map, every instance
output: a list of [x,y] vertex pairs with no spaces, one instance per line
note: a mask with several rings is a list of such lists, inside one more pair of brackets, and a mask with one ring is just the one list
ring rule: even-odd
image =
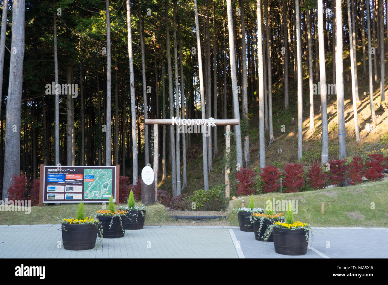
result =
[[43,203],[115,202],[116,166],[44,166]]

